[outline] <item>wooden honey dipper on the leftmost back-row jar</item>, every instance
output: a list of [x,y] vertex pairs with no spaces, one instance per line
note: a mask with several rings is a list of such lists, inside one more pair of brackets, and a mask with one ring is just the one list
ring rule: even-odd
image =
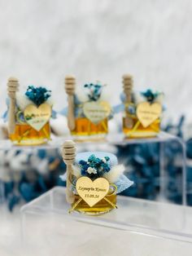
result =
[[11,135],[15,131],[15,93],[19,88],[19,82],[15,77],[10,77],[7,82],[7,91],[10,98],[8,110],[8,133]]

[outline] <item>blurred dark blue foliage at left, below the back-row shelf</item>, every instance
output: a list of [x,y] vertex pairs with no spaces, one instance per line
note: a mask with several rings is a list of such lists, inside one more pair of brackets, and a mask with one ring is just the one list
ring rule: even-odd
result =
[[[22,150],[16,150],[15,156],[22,154],[22,152]],[[33,155],[28,156],[28,164],[30,164],[30,161],[33,161],[31,160],[32,156]],[[31,201],[37,196],[41,196],[42,193],[50,190],[50,188],[65,185],[65,183],[59,179],[59,175],[63,174],[66,170],[66,166],[62,157],[59,157],[58,149],[52,150],[51,153],[44,149],[38,150],[36,157],[39,158],[40,161],[48,161],[48,168],[45,173],[41,173],[36,168],[28,171],[22,170],[20,171],[20,180],[18,182],[11,179],[9,182],[3,183],[4,197],[7,200],[9,210],[13,210],[15,205],[20,203],[20,201]],[[11,169],[8,162],[6,166]]]

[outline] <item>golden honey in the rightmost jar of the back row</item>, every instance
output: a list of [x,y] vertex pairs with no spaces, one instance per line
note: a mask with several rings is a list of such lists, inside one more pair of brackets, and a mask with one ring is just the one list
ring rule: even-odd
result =
[[123,117],[123,132],[127,138],[151,138],[159,134],[160,131],[160,119],[155,120],[150,126],[146,128],[142,126],[141,122],[138,121],[137,117],[133,117],[133,127],[127,128],[125,126],[125,117]]

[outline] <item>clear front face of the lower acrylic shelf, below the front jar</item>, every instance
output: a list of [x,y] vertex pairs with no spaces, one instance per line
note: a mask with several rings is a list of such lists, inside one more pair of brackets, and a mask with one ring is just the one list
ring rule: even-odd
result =
[[191,256],[192,245],[99,226],[62,214],[28,216],[25,254],[37,256]]

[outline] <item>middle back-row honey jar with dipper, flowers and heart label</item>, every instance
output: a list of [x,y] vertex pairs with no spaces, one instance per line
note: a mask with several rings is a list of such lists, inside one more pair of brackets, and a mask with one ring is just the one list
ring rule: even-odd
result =
[[85,84],[76,91],[75,77],[65,77],[68,94],[68,128],[76,140],[104,139],[108,133],[111,106],[100,82]]

